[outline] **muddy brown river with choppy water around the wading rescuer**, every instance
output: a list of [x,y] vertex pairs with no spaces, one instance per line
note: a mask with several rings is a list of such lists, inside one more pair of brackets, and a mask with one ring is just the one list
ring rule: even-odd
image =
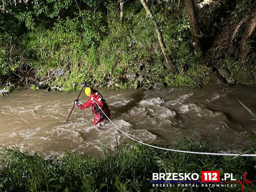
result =
[[[209,139],[222,151],[255,149],[256,123],[238,102],[256,111],[255,86],[98,91],[113,122],[141,141],[171,144],[185,135]],[[94,126],[91,108],[75,108],[65,123],[77,93],[20,90],[0,96],[0,145],[48,157],[66,150],[98,155],[103,145],[133,142],[109,121]],[[80,101],[86,99],[82,94]]]

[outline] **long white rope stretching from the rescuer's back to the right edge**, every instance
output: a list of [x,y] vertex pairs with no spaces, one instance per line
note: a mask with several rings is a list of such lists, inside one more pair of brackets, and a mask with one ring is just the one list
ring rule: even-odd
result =
[[[94,99],[93,99],[94,100]],[[95,101],[95,100],[94,100]],[[97,103],[95,101],[95,103]],[[97,103],[98,104],[98,103]],[[99,106],[99,104],[98,104]],[[101,109],[101,107],[99,106],[99,108]],[[101,111],[103,112],[103,114],[106,116],[106,118],[108,118],[108,116],[104,113],[104,111],[101,109]],[[190,151],[183,151],[183,150],[176,150],[176,149],[167,149],[167,148],[163,148],[163,147],[157,147],[154,145],[150,145],[147,143],[143,143],[139,140],[136,140],[134,138],[132,138],[131,136],[129,136],[127,133],[125,133],[124,131],[122,131],[120,128],[118,128],[115,123],[113,123],[109,118],[108,120],[119,130],[121,131],[121,133],[123,133],[125,136],[127,136],[128,138],[130,138],[133,141],[136,141],[138,143],[141,143],[142,145],[147,145],[149,147],[153,147],[153,148],[157,148],[157,149],[162,149],[162,150],[167,150],[167,151],[172,151],[172,152],[180,152],[180,153],[191,153],[191,154],[198,154],[198,155],[219,155],[219,156],[244,156],[244,157],[256,157],[256,154],[239,154],[239,153],[209,153],[209,152],[190,152]]]

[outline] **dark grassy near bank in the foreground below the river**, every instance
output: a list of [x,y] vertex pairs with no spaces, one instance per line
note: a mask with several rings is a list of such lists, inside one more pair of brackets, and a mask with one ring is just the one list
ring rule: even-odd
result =
[[[199,152],[216,152],[210,143],[185,139],[174,148]],[[108,155],[107,155],[108,154]],[[0,191],[241,191],[241,186],[212,188],[155,188],[153,172],[199,173],[201,170],[220,170],[233,173],[236,179],[246,172],[246,178],[256,181],[256,158],[217,157],[166,152],[143,145],[126,145],[121,150],[101,158],[71,152],[44,160],[39,155],[3,150],[0,172]],[[253,184],[244,191],[255,191]]]

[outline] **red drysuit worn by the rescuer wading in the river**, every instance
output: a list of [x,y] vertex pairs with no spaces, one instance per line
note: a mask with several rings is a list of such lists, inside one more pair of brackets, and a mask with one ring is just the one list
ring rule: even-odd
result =
[[104,113],[110,119],[111,118],[110,109],[108,108],[108,105],[107,105],[106,101],[103,99],[103,97],[101,96],[101,94],[96,90],[93,90],[93,93],[89,96],[89,99],[88,99],[88,101],[86,101],[86,103],[84,103],[84,104],[79,103],[77,105],[77,107],[79,109],[86,109],[89,106],[93,106],[92,110],[93,110],[93,113],[95,113],[93,125],[96,125],[96,124],[102,122],[106,118],[106,116],[103,114],[101,109],[99,109],[98,105],[101,107],[101,109],[104,111]]

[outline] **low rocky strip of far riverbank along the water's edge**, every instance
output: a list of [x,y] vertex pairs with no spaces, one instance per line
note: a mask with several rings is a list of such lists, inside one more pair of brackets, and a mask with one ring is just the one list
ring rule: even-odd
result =
[[[190,88],[202,87],[205,85],[219,85],[227,83],[229,85],[243,84],[243,85],[255,85],[256,84],[256,71],[232,71],[225,67],[219,69],[215,67],[204,67],[202,66],[199,71],[194,71],[193,75],[178,74],[167,75],[165,72],[159,74],[153,74],[148,61],[144,61],[137,66],[136,72],[123,74],[123,78],[120,79],[105,79],[104,81],[98,81],[91,77],[87,81],[82,81],[86,78],[86,74],[80,74],[81,78],[74,77],[75,79],[67,80],[62,70],[55,69],[51,70],[51,76],[47,76],[42,79],[35,79],[33,83],[24,84],[19,83],[7,83],[0,85],[1,94],[10,92],[16,89],[47,89],[47,91],[58,90],[58,91],[71,91],[80,89],[80,85],[83,82],[87,83],[88,86],[93,88],[108,88],[108,89],[138,89],[143,88],[149,89],[161,89],[165,86],[188,86]],[[60,75],[57,73],[61,71]],[[56,76],[54,75],[56,74]],[[68,72],[70,73],[70,72]],[[158,78],[155,80],[149,79],[152,76],[157,75]],[[168,79],[168,80],[167,80]],[[170,80],[172,79],[172,80]],[[66,81],[67,80],[67,81]],[[93,83],[92,83],[93,82]],[[6,91],[5,91],[6,90]]]

